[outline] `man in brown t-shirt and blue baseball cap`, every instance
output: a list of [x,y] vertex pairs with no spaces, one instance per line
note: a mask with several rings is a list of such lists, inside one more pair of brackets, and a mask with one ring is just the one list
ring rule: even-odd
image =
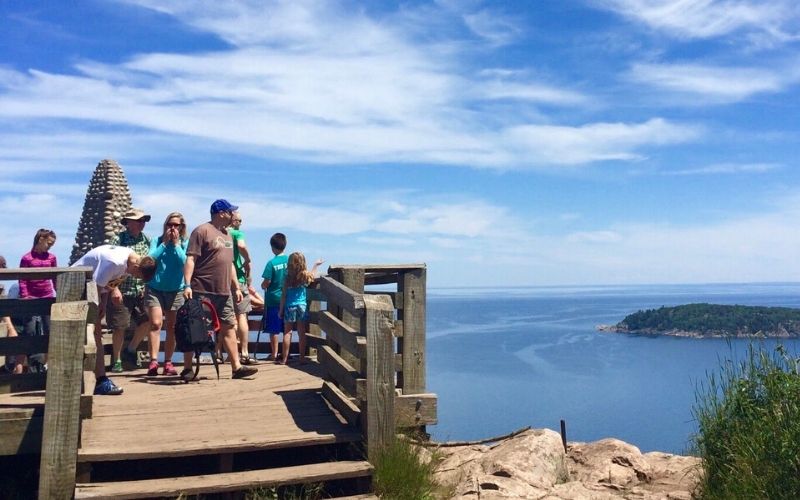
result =
[[[206,298],[217,310],[220,319],[218,339],[228,351],[228,360],[233,370],[232,378],[244,378],[258,371],[252,366],[242,366],[236,348],[236,316],[233,312],[233,297],[242,300],[236,270],[233,267],[233,239],[226,227],[230,225],[233,212],[239,207],[227,200],[211,204],[211,221],[197,226],[189,236],[183,279],[186,288],[183,295],[190,299]],[[191,353],[184,353],[181,377],[190,379],[192,373]]]

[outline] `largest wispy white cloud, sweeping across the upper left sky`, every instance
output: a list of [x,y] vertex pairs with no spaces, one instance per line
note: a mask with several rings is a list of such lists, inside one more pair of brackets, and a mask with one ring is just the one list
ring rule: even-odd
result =
[[[344,15],[336,4],[129,3],[215,33],[231,48],[82,60],[78,74],[6,69],[0,117],[112,124],[319,163],[500,169],[635,160],[697,137],[691,124],[661,119],[544,123],[531,107],[580,108],[587,96],[524,71],[476,70],[468,44],[420,44],[391,17]],[[499,118],[493,105],[508,101],[519,105]]]

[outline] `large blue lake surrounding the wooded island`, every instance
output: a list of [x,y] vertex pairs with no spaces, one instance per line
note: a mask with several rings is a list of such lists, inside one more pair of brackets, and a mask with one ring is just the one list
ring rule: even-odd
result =
[[[428,379],[437,440],[497,436],[527,425],[570,441],[616,437],[642,451],[685,453],[695,391],[750,340],[598,332],[639,309],[709,302],[800,307],[800,284],[428,290]],[[757,341],[756,341],[757,342]],[[783,343],[800,352],[796,340]]]

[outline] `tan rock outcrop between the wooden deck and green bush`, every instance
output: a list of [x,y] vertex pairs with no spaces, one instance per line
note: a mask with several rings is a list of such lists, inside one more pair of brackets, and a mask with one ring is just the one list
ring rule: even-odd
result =
[[455,498],[674,499],[692,497],[700,461],[617,439],[571,443],[532,429],[492,446],[438,449],[436,477]]

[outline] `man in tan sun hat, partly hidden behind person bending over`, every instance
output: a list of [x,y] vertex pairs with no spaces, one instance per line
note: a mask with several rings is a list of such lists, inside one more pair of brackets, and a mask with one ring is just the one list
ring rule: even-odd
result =
[[[141,257],[146,257],[150,252],[150,238],[144,234],[144,225],[150,221],[150,216],[143,210],[131,207],[122,216],[122,225],[125,230],[111,239],[109,244],[132,248]],[[113,330],[112,342],[112,367],[111,371],[119,373],[122,371],[122,361],[125,360],[128,367],[140,365],[136,351],[128,348],[123,350],[122,344],[125,340],[125,330],[129,327],[147,330],[150,328],[147,318],[146,308],[144,307],[144,285],[145,282],[139,278],[128,276],[119,285],[122,292],[122,304],[109,304],[106,312],[106,323]]]

